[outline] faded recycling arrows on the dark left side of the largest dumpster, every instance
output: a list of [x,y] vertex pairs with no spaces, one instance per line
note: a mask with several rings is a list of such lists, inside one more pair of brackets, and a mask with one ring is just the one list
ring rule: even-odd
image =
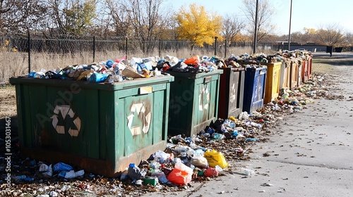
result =
[[[51,117],[53,119],[52,125],[56,129],[56,132],[58,132],[58,134],[65,134],[65,126],[58,125],[59,112],[61,112],[61,116],[63,117],[63,120],[66,120],[66,121],[67,121],[66,119],[67,115],[71,117],[70,120],[72,120],[75,113],[73,112],[70,106],[56,106],[54,108],[54,115]],[[71,129],[71,127],[69,127],[68,134],[70,134],[71,136],[78,136],[78,133],[80,132],[80,127],[81,127],[80,117],[76,117],[73,120],[73,124],[76,126],[76,129]]]

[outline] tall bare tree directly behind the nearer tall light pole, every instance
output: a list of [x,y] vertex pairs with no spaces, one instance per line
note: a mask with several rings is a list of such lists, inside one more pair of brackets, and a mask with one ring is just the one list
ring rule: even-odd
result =
[[[243,0],[242,10],[246,18],[249,20],[247,30],[250,34],[255,32],[255,16],[256,16],[256,0]],[[266,35],[270,34],[275,29],[274,25],[270,24],[270,18],[274,14],[273,8],[270,7],[268,0],[258,0],[258,39],[260,42]]]

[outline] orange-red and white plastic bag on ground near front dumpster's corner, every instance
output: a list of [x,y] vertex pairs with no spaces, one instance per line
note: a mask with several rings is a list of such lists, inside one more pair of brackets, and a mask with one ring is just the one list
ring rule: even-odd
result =
[[174,169],[168,175],[169,182],[178,185],[189,184],[191,182],[193,170],[181,162],[175,164]]

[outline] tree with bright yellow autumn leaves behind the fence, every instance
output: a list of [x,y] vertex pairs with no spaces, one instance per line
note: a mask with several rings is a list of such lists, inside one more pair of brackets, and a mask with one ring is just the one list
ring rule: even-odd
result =
[[204,6],[190,4],[189,9],[180,8],[176,14],[177,34],[179,39],[186,39],[191,42],[191,50],[194,46],[213,44],[215,37],[221,40],[222,17],[215,13],[208,14]]

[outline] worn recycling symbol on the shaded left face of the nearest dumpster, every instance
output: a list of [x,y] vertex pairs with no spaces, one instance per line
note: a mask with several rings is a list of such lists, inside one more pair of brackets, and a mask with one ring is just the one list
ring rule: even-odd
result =
[[80,120],[80,117],[75,116],[75,113],[73,112],[70,106],[60,106],[60,105],[56,106],[54,108],[54,114],[52,115],[51,118],[53,119],[52,125],[56,130],[56,132],[58,132],[58,134],[65,134],[66,129],[64,125],[71,125],[66,123],[70,123],[70,121],[72,121],[73,125],[75,125],[76,128],[75,127],[71,128],[70,126],[68,127],[67,132],[71,136],[78,136],[78,133],[80,132],[80,128],[81,128],[81,120]]

